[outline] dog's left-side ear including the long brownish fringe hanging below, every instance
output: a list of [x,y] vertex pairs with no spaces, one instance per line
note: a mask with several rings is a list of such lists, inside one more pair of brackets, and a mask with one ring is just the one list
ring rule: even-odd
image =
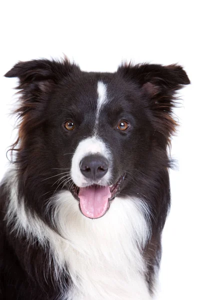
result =
[[71,64],[67,59],[61,61],[38,59],[15,64],[6,77],[18,77],[20,104],[14,111],[19,119],[19,136],[12,145],[15,148],[21,140],[21,147],[28,134],[40,126],[45,120],[45,108],[48,97],[52,94],[56,84],[63,78],[70,77],[79,71],[79,67]]

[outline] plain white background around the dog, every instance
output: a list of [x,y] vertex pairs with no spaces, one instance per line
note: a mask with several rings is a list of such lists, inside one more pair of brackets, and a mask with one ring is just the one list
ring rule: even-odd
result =
[[[180,126],[171,155],[172,206],[163,232],[159,300],[199,295],[199,8],[196,1],[9,1],[0,7],[0,178],[13,141],[15,79],[3,74],[18,60],[65,53],[83,70],[114,71],[123,60],[184,66],[191,85],[175,109]],[[136,300],[136,299],[135,299]]]

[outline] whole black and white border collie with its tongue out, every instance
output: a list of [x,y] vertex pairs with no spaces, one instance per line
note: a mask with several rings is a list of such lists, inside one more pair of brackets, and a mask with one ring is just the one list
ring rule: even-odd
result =
[[38,59],[5,76],[19,78],[20,103],[0,186],[0,298],[152,299],[185,71]]

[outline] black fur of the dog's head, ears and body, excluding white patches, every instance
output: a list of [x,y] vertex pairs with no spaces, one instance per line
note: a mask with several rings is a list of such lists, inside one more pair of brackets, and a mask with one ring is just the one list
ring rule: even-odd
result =
[[[148,267],[146,281],[152,290],[161,256],[160,236],[170,206],[167,146],[176,126],[172,108],[176,90],[189,83],[185,71],[175,64],[145,63],[121,65],[115,73],[94,73],[83,72],[67,60],[41,59],[19,62],[5,76],[19,78],[17,88],[21,93],[16,111],[19,135],[11,148],[18,201],[20,204],[23,197],[26,212],[36,214],[56,232],[51,214],[45,213],[47,200],[55,190],[51,176],[59,173],[56,168],[70,167],[72,154],[63,154],[73,153],[78,142],[90,136],[95,121],[96,82],[107,83],[112,101],[102,112],[98,134],[112,149],[112,181],[126,171],[120,196],[139,195],[149,207],[151,236],[143,256]],[[76,125],[72,132],[63,128],[68,118]],[[130,127],[119,132],[116,123],[123,118],[128,119]],[[51,178],[44,180],[47,177]],[[30,243],[25,232],[17,236],[12,230],[14,218],[9,226],[6,224],[9,190],[5,183],[0,187],[0,298],[56,299],[59,284],[69,284],[70,278],[62,273],[57,282],[53,263],[49,267],[52,257],[48,247],[42,248],[38,240]]]

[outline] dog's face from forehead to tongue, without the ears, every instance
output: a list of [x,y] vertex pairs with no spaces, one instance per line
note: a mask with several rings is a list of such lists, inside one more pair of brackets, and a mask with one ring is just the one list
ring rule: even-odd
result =
[[123,178],[131,180],[150,151],[153,128],[146,106],[136,84],[117,73],[79,73],[50,95],[46,152],[50,156],[54,149],[56,166],[70,171],[71,180],[63,174],[60,187],[70,186],[86,216],[105,213]]

